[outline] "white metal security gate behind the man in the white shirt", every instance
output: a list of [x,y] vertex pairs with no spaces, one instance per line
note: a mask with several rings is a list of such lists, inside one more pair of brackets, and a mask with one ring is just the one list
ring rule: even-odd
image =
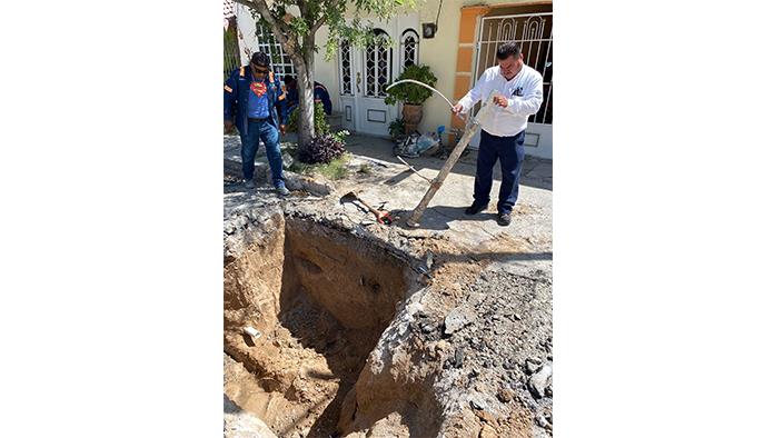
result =
[[[518,42],[524,63],[543,74],[543,106],[535,116],[529,117],[525,146],[527,153],[552,158],[553,13],[484,17],[478,29],[474,81],[480,78],[484,70],[497,66],[497,48],[508,41]],[[472,145],[478,145],[478,139],[474,139]]]

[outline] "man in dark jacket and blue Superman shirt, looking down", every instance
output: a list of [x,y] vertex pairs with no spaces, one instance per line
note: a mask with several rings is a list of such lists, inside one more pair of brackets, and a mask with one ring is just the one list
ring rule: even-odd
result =
[[252,181],[256,152],[260,141],[271,168],[271,179],[277,193],[289,193],[282,176],[282,156],[279,151],[279,132],[285,133],[287,120],[286,96],[279,78],[269,70],[266,53],[252,53],[249,66],[231,73],[224,84],[224,126],[236,125],[241,138],[241,159],[245,187],[255,189]]

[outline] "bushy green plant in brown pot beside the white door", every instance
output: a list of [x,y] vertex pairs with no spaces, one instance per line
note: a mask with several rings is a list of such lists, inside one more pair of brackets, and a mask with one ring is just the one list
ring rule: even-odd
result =
[[[429,66],[408,66],[397,80],[414,79],[416,81],[434,87],[438,78],[433,74]],[[421,121],[421,104],[429,99],[433,91],[416,83],[400,83],[387,90],[385,103],[395,104],[403,102],[403,119],[405,123],[405,133],[411,133],[417,130]]]

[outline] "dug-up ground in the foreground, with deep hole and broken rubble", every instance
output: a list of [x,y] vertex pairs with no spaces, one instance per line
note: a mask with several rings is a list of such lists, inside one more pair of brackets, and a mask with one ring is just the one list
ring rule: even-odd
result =
[[385,227],[297,187],[226,202],[226,436],[552,435],[549,235]]

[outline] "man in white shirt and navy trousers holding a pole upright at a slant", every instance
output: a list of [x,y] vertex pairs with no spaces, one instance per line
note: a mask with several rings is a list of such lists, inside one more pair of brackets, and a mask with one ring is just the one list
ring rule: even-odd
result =
[[543,77],[524,64],[522,50],[516,42],[506,42],[497,49],[497,63],[484,71],[473,90],[454,106],[452,112],[465,113],[484,99],[484,107],[477,115],[482,140],[474,201],[465,213],[477,215],[489,206],[492,170],[499,159],[503,182],[497,201],[497,223],[506,227],[510,225],[510,212],[518,198],[527,118],[536,113],[543,103]]

